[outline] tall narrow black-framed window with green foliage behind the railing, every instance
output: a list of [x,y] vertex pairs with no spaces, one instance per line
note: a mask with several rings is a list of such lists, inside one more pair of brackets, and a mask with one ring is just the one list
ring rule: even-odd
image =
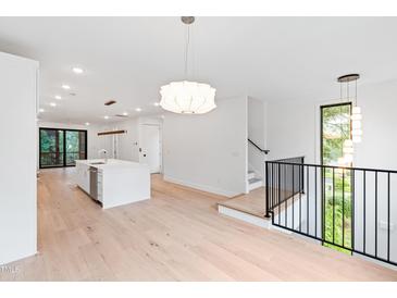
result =
[[[343,147],[351,134],[351,102],[321,107],[321,164],[336,165],[344,158]],[[349,164],[351,165],[351,164]],[[324,239],[334,243],[345,241],[351,248],[351,171],[325,167],[322,172],[324,218]],[[350,250],[324,244],[336,250],[350,253]]]

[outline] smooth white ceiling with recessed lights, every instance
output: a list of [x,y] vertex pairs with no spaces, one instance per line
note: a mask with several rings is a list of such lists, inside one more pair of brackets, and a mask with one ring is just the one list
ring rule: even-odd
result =
[[[216,98],[333,99],[343,74],[360,73],[359,84],[397,78],[396,28],[396,17],[197,17],[193,78]],[[0,17],[0,50],[40,62],[46,121],[160,113],[160,86],[184,78],[184,38],[179,17]],[[109,99],[117,104],[106,108]]]

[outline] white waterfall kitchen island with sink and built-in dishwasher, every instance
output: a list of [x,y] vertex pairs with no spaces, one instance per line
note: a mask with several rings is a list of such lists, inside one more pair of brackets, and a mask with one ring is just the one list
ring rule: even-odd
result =
[[150,198],[149,166],[124,160],[76,160],[76,184],[103,209]]

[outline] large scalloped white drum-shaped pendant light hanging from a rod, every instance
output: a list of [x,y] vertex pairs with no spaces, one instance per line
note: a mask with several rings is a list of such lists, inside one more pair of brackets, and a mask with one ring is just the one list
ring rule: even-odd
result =
[[[185,44],[185,78],[188,75],[188,50],[190,41],[190,25],[194,16],[182,16],[187,26]],[[160,89],[160,105],[166,111],[179,114],[204,114],[216,108],[215,89],[208,84],[182,80],[172,82]]]

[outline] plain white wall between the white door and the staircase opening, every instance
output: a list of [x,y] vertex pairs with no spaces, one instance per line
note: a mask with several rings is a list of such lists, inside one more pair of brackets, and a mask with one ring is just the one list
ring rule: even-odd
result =
[[218,100],[216,104],[203,115],[165,115],[164,178],[235,196],[247,190],[247,98]]

